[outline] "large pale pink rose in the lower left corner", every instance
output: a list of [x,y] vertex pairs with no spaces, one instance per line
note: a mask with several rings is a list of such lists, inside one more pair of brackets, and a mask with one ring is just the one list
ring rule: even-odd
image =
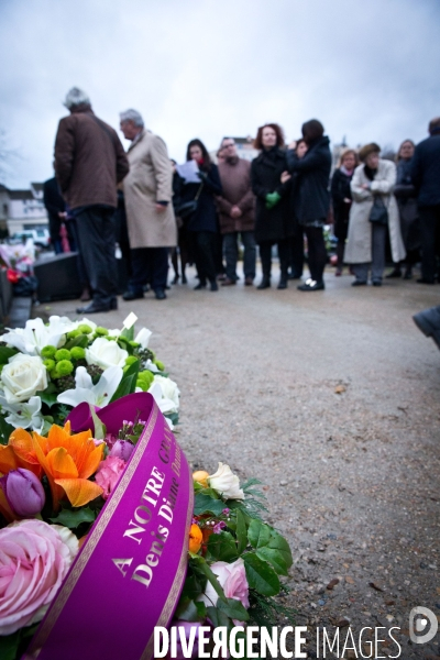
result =
[[0,530],[0,635],[37,622],[78,552],[66,527],[20,520]]

